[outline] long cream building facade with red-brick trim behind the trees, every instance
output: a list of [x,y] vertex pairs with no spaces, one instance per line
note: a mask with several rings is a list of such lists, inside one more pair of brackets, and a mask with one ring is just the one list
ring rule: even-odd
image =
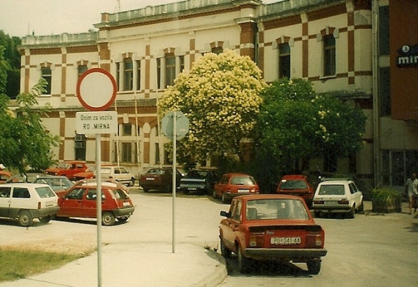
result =
[[[102,13],[94,24],[97,31],[22,38],[21,90],[29,91],[41,76],[47,79],[47,93],[38,102],[52,105],[43,123],[61,138],[54,153],[59,160],[93,163],[95,136],[75,131],[75,113],[84,110],[76,84],[86,69],[107,69],[118,85],[109,110],[117,111],[119,129],[102,135],[102,161],[140,174],[168,163],[160,152],[167,138],[160,135],[156,108],[164,89],[203,54],[232,49],[250,56],[265,81],[307,79],[317,92],[332,92],[368,117],[361,151],[350,158],[336,158],[330,151],[325,161],[312,159],[308,170],[357,174],[367,186],[401,186],[408,172],[418,168],[410,166],[418,159],[418,65],[416,54],[408,54],[418,47],[410,28],[417,2],[188,0]],[[398,6],[410,17],[389,9]],[[392,21],[392,13],[402,24]],[[395,25],[405,25],[403,33]],[[402,58],[397,49],[405,45],[410,50]],[[404,99],[415,106],[402,104]]]

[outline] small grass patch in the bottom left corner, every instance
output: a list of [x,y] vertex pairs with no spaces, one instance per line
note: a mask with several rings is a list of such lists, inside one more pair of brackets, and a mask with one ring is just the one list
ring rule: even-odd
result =
[[59,268],[86,254],[0,248],[0,282],[15,281]]

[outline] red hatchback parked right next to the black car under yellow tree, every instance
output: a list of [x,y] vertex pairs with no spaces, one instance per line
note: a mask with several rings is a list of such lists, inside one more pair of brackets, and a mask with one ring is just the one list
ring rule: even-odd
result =
[[222,176],[219,183],[213,188],[213,198],[222,198],[222,202],[231,202],[233,197],[238,195],[256,195],[260,188],[251,175],[240,173],[229,173]]

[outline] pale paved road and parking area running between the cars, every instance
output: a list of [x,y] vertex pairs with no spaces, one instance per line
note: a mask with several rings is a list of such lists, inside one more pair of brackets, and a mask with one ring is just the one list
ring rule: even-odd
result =
[[[229,205],[211,197],[131,192],[134,215],[125,224],[102,228],[103,243],[193,243],[219,252],[219,211]],[[311,276],[305,264],[260,263],[249,274],[240,274],[236,258],[226,261],[229,276],[222,287],[242,286],[417,286],[418,218],[408,213],[356,214],[354,219],[320,218],[325,247],[320,274]],[[403,208],[407,211],[407,208]],[[19,245],[45,250],[82,250],[95,247],[95,220],[52,220],[49,224],[19,227],[0,219],[0,246]],[[172,232],[174,230],[174,232]],[[181,272],[181,267],[179,268]]]

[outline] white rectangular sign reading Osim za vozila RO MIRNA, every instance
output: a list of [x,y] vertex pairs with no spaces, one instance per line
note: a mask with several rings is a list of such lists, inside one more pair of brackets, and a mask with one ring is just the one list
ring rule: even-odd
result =
[[75,113],[77,133],[117,133],[118,113],[116,111],[77,112]]

